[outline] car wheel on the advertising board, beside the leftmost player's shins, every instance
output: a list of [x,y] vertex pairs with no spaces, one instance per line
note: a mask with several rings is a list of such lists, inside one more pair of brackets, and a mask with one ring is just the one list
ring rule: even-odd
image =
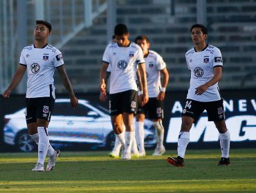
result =
[[32,152],[35,150],[36,143],[28,134],[28,132],[21,132],[15,139],[15,145],[21,152]]

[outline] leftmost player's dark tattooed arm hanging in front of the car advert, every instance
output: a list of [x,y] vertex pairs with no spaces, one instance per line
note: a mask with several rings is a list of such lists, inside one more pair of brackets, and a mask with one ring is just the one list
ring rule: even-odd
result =
[[66,90],[68,91],[72,107],[77,108],[78,100],[75,96],[75,93],[73,92],[73,88],[72,88],[71,82],[68,79],[68,74],[66,74],[66,69],[65,69],[64,65],[61,65],[60,67],[58,67],[57,72],[60,74],[62,83],[63,83],[64,87],[66,88]]

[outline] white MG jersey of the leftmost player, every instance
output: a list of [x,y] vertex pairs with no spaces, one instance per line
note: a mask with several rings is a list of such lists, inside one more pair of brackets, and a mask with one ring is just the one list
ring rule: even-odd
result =
[[50,44],[44,48],[35,48],[34,44],[28,45],[21,52],[19,64],[27,67],[26,98],[55,98],[53,74],[55,68],[64,64],[60,50]]

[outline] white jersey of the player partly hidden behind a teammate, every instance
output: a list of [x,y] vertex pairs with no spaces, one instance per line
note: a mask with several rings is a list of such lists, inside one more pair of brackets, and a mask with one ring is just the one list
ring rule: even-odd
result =
[[161,88],[160,70],[166,68],[166,64],[163,58],[152,50],[149,50],[149,54],[145,57],[145,64],[149,98],[157,97]]

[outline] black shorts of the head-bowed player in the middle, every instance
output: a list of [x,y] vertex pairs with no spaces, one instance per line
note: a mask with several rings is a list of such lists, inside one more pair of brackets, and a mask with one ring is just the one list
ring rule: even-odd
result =
[[138,95],[136,90],[127,90],[115,94],[109,94],[110,115],[123,112],[135,113],[138,107]]

